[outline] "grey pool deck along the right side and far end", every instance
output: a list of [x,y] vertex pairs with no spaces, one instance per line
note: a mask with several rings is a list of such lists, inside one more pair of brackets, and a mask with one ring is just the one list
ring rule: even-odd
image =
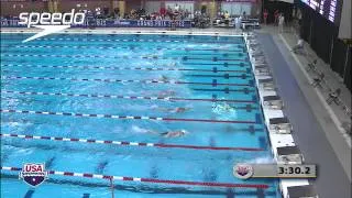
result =
[[[26,29],[10,29],[20,32]],[[91,31],[91,32],[89,32]],[[237,35],[233,29],[191,29],[167,31],[161,29],[103,29],[85,30],[82,33],[161,33],[194,34],[194,35]],[[9,29],[1,29],[9,32]],[[68,32],[77,32],[73,29]],[[305,74],[302,67],[308,57],[298,56],[289,51],[297,38],[295,34],[285,32],[278,34],[276,28],[265,26],[257,31],[264,45],[265,56],[274,73],[278,94],[285,103],[285,114],[294,127],[294,139],[301,150],[306,163],[318,165],[318,178],[311,180],[322,198],[351,197],[351,138],[345,134],[341,123],[350,122],[350,118],[338,106],[324,102],[326,92],[310,86],[311,74]],[[217,34],[218,33],[218,34]],[[306,45],[308,46],[308,45]],[[308,48],[311,52],[311,50]],[[320,63],[322,63],[320,61]],[[326,66],[329,85],[342,87],[342,100],[351,109],[351,92],[344,88],[334,74]],[[338,82],[337,82],[338,81]]]

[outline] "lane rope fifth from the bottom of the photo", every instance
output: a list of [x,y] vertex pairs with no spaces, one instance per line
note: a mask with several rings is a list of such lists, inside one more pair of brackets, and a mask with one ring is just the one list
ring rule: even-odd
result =
[[253,87],[250,84],[213,84],[213,82],[196,82],[196,81],[177,81],[177,80],[136,80],[136,79],[101,79],[101,78],[64,78],[64,77],[36,77],[36,76],[2,76],[2,79],[35,79],[35,80],[72,80],[72,81],[102,81],[102,82],[120,82],[120,84],[172,84],[172,85],[204,85],[204,86],[238,86]]

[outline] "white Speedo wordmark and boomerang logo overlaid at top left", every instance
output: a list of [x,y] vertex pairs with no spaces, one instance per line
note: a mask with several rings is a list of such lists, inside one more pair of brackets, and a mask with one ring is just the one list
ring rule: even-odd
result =
[[42,32],[22,41],[22,43],[53,34],[65,29],[69,29],[73,24],[84,24],[86,14],[81,12],[75,13],[75,9],[67,13],[48,13],[48,12],[22,12],[19,15],[19,24],[25,24],[28,28],[43,29]]

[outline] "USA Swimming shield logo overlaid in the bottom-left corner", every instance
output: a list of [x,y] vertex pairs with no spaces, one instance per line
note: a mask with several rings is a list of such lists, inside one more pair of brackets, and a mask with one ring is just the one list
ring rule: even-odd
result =
[[44,183],[48,177],[48,172],[45,172],[44,164],[24,164],[22,172],[20,172],[20,179],[32,187],[36,187]]

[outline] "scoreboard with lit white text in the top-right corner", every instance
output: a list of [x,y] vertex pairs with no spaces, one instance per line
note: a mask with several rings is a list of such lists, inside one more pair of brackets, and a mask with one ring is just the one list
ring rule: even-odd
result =
[[301,0],[315,11],[319,12],[322,16],[333,23],[340,21],[340,6],[342,0]]

